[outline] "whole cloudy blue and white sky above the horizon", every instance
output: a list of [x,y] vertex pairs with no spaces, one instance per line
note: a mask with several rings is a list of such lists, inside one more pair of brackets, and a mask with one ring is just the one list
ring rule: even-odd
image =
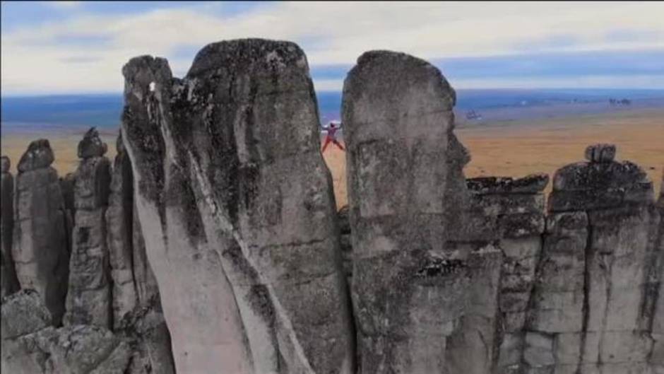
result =
[[204,45],[297,42],[318,91],[357,57],[429,60],[454,88],[664,88],[664,2],[2,1],[1,95],[121,93],[121,67]]

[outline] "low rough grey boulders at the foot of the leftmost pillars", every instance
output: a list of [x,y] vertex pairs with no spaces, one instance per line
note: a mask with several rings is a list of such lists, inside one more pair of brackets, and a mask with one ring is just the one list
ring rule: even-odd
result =
[[126,341],[102,327],[55,329],[50,326],[52,317],[40,299],[35,291],[24,290],[2,300],[3,373],[127,373]]

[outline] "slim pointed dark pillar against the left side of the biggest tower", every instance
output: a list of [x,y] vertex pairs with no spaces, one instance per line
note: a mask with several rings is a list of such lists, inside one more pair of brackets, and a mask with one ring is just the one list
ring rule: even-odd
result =
[[135,341],[128,373],[174,373],[170,333],[135,220],[134,180],[121,136],[117,139],[106,224],[113,281],[113,331]]

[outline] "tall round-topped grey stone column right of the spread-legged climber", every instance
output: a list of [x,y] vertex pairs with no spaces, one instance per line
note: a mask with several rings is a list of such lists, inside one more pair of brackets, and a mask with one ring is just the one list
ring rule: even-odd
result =
[[449,337],[473,309],[482,266],[448,243],[468,201],[454,103],[440,71],[407,54],[364,53],[345,80],[361,373],[449,373]]

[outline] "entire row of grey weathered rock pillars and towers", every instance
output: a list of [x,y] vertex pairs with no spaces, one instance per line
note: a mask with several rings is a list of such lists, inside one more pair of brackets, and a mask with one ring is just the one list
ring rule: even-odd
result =
[[664,373],[664,190],[614,145],[466,179],[441,72],[366,52],[336,212],[297,45],[122,73],[112,163],[95,129],[62,178],[2,158],[3,372]]

